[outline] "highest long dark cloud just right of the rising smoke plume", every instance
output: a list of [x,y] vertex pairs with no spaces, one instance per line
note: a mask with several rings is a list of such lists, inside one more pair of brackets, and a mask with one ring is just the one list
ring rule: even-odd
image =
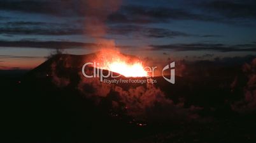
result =
[[171,20],[215,21],[210,15],[192,13],[189,9],[166,6],[123,6],[117,13],[109,16],[110,22],[116,23],[168,23]]

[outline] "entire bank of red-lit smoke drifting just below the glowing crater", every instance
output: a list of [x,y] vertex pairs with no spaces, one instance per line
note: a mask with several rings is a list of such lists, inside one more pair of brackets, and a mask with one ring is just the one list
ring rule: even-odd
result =
[[122,111],[135,120],[184,121],[199,118],[197,111],[201,108],[185,108],[182,103],[174,104],[167,99],[162,90],[153,84],[116,85],[100,82],[99,78],[82,77],[78,90],[96,104],[108,98],[113,111]]

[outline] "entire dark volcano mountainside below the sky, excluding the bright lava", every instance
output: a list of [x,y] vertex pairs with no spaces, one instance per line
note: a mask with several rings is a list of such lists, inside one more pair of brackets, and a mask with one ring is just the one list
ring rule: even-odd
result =
[[[97,54],[57,54],[17,81],[2,84],[3,97],[10,101],[5,106],[12,113],[6,115],[3,128],[6,134],[15,128],[15,134],[6,138],[27,142],[215,142],[212,132],[228,140],[233,139],[228,131],[234,127],[244,130],[243,134],[234,132],[241,140],[252,133],[246,127],[255,118],[239,116],[227,104],[241,92],[231,90],[232,75],[224,75],[225,81],[222,75],[214,80],[176,76],[174,85],[162,76],[152,77],[155,84],[109,84],[82,75],[84,63],[97,59]],[[137,61],[134,56],[124,56]],[[87,71],[93,69],[87,67]],[[122,75],[117,80],[121,78],[148,79]],[[227,134],[220,132],[223,130]]]

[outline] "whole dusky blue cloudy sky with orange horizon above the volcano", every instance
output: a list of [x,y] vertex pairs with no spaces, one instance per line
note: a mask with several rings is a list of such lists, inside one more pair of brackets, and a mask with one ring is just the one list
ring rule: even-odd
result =
[[[256,53],[255,0],[111,0],[101,8],[88,1],[0,0],[0,69],[33,68],[55,48],[90,53],[98,38],[154,58]],[[89,34],[94,22],[104,22],[104,34]]]

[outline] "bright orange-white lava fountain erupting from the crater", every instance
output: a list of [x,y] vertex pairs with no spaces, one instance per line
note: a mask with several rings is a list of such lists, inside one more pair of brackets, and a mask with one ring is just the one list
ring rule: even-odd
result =
[[113,50],[101,51],[97,57],[97,63],[101,69],[113,71],[125,77],[148,76],[142,62],[136,57],[125,56]]

